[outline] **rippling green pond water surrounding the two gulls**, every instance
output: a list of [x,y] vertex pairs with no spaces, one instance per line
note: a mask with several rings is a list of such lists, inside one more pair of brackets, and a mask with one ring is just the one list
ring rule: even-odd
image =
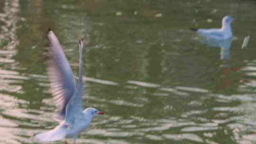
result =
[[[188,30],[225,15],[229,48]],[[83,105],[106,114],[78,144],[256,144],[255,24],[255,0],[0,0],[0,144],[40,144],[57,125],[48,27],[76,79],[84,38]]]

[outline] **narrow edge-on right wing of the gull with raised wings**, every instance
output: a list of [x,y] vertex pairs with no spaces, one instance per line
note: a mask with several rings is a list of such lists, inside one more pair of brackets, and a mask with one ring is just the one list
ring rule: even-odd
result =
[[75,118],[82,118],[82,95],[83,95],[83,82],[82,82],[82,40],[79,41],[79,80],[78,90],[67,104],[65,125],[73,126]]

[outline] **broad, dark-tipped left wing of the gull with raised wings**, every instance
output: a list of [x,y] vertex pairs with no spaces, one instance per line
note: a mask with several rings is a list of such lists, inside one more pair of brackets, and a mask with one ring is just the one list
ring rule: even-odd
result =
[[64,120],[66,105],[76,90],[74,76],[63,49],[53,33],[49,29],[47,35],[49,41],[48,75],[50,78],[51,92],[56,101],[58,111],[55,120]]

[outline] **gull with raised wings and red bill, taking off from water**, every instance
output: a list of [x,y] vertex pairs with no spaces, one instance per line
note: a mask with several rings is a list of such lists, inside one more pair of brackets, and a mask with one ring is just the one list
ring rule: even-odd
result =
[[48,75],[50,77],[51,92],[58,108],[54,119],[59,122],[59,126],[35,137],[41,141],[58,141],[65,138],[73,138],[74,144],[76,136],[85,130],[93,117],[102,115],[103,112],[96,108],[86,108],[82,111],[82,47],[83,40],[79,40],[79,80],[76,88],[74,76],[63,49],[49,28],[47,38],[49,41],[49,62]]

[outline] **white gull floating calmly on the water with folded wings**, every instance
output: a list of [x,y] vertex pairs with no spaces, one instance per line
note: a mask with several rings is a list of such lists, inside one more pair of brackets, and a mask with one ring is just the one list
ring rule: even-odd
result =
[[201,36],[205,36],[207,38],[212,38],[216,40],[226,40],[232,38],[232,29],[231,23],[235,21],[234,18],[230,16],[225,16],[222,19],[222,27],[221,28],[211,28],[211,29],[203,29],[203,28],[190,28],[190,30],[197,32]]

